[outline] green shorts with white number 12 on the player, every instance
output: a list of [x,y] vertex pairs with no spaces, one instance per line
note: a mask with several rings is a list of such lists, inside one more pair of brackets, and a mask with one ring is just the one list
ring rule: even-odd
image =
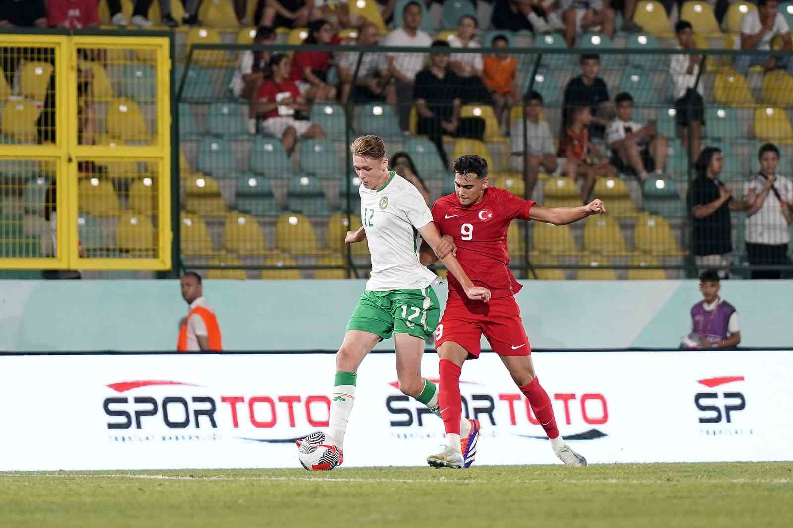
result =
[[431,286],[424,289],[366,290],[358,299],[347,330],[360,330],[389,339],[409,334],[430,341],[440,319],[440,305]]

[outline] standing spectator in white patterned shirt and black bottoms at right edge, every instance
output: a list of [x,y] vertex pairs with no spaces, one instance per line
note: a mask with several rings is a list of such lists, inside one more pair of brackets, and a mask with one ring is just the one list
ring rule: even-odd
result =
[[[787,243],[793,222],[793,183],[777,172],[780,151],[765,143],[757,153],[760,172],[745,183],[746,256],[752,266],[790,266]],[[757,270],[753,279],[780,279],[780,270]]]

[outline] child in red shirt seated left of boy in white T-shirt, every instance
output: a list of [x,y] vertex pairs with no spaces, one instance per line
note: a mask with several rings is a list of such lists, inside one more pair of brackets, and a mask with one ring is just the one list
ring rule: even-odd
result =
[[598,147],[589,141],[589,125],[592,124],[592,111],[588,106],[578,106],[573,110],[573,123],[559,141],[559,157],[565,158],[561,172],[573,182],[583,180],[581,196],[584,204],[589,203],[592,189],[599,176],[616,178],[617,171],[608,164]]

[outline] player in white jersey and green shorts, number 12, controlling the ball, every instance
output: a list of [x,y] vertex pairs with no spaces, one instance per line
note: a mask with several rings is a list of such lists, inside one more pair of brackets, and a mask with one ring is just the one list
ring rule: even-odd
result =
[[[432,285],[439,277],[419,262],[421,239],[433,248],[470,299],[489,300],[488,289],[473,285],[460,267],[451,244],[441,239],[432,213],[412,183],[389,172],[385,143],[377,136],[362,136],[350,146],[353,165],[361,178],[362,228],[349,231],[345,243],[369,241],[372,274],[358,300],[347,333],[336,353],[336,374],[331,396],[327,441],[339,448],[343,461],[344,433],[355,400],[358,365],[382,339],[394,335],[400,390],[419,400],[440,417],[438,387],[421,377],[424,342],[431,339],[440,317]],[[420,238],[419,238],[420,237]],[[461,419],[462,452],[475,454],[477,420]],[[297,442],[300,446],[301,441]],[[473,459],[472,459],[473,461]],[[330,466],[322,469],[333,469]]]

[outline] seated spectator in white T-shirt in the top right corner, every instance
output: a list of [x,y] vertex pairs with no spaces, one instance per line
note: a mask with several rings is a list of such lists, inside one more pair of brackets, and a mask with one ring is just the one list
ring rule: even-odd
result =
[[[770,50],[774,37],[782,37],[782,49],[791,50],[791,29],[782,13],[776,10],[776,0],[757,0],[757,10],[749,11],[741,20],[741,49]],[[764,57],[739,55],[735,58],[735,71],[746,75],[750,67],[760,64],[766,71],[783,67],[793,75],[791,57]]]

